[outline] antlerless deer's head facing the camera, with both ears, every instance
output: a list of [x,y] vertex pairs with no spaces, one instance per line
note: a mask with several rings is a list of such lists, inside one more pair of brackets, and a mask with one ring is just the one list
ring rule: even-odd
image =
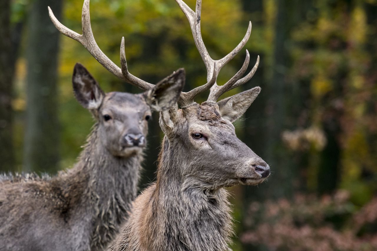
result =
[[105,94],[85,67],[76,64],[72,83],[76,99],[97,119],[101,144],[114,156],[128,157],[140,154],[146,147],[151,109],[165,110],[176,103],[184,84],[176,81],[179,74],[141,94]]

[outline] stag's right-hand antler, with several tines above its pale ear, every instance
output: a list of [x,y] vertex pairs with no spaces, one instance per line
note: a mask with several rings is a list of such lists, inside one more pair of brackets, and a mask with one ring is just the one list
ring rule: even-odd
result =
[[183,13],[186,15],[187,19],[189,20],[196,47],[198,48],[199,54],[201,55],[202,60],[204,61],[205,67],[207,68],[207,81],[208,81],[208,83],[204,84],[203,86],[199,86],[191,90],[190,92],[182,93],[179,103],[181,103],[182,105],[189,105],[190,103],[193,103],[195,96],[197,96],[199,93],[202,93],[208,89],[210,89],[210,95],[208,96],[207,101],[216,102],[216,100],[228,90],[231,90],[249,81],[251,77],[253,77],[258,67],[259,56],[257,58],[256,64],[254,65],[253,69],[251,69],[250,73],[248,73],[245,77],[241,78],[242,75],[244,75],[244,73],[246,72],[249,61],[250,61],[250,54],[246,50],[246,59],[245,59],[244,65],[236,73],[236,75],[234,75],[227,83],[225,83],[222,86],[218,86],[216,83],[218,74],[220,70],[222,69],[222,67],[225,64],[227,64],[230,60],[232,60],[234,56],[236,56],[236,54],[238,54],[238,52],[241,51],[241,49],[245,46],[245,44],[249,40],[250,34],[251,34],[251,22],[249,22],[249,26],[245,34],[245,37],[238,44],[238,46],[236,46],[233,49],[233,51],[231,51],[225,57],[219,60],[213,60],[211,56],[208,54],[208,51],[204,45],[202,34],[201,34],[200,20],[201,20],[202,0],[196,0],[195,12],[192,9],[190,9],[190,7],[185,2],[183,2],[183,0],[175,0],[175,2],[178,3],[179,7],[182,9]]

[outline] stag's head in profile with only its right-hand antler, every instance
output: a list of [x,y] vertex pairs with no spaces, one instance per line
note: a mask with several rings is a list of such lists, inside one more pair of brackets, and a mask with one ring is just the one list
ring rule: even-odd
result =
[[[250,61],[250,55],[246,51],[245,63],[236,75],[222,86],[216,83],[221,68],[247,43],[251,23],[244,39],[232,52],[220,60],[213,60],[201,37],[201,0],[196,1],[195,12],[182,0],[176,2],[189,20],[196,47],[207,68],[208,83],[190,92],[181,93],[178,101],[181,109],[175,106],[161,113],[160,126],[166,140],[160,167],[169,166],[164,163],[172,161],[169,155],[182,158],[183,161],[179,164],[181,168],[177,172],[187,186],[194,185],[213,190],[236,184],[259,184],[269,176],[270,167],[237,138],[232,122],[242,116],[261,88],[254,87],[217,101],[222,94],[253,77],[259,57],[253,69],[242,77]],[[208,89],[210,94],[207,101],[202,104],[195,103],[195,96]],[[158,180],[159,178],[161,177],[158,177]]]

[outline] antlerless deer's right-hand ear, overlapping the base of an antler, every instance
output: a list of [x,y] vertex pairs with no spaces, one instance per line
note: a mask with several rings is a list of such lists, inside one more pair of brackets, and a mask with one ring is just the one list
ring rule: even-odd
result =
[[184,84],[185,70],[178,69],[146,92],[147,104],[158,112],[170,109],[177,103]]

